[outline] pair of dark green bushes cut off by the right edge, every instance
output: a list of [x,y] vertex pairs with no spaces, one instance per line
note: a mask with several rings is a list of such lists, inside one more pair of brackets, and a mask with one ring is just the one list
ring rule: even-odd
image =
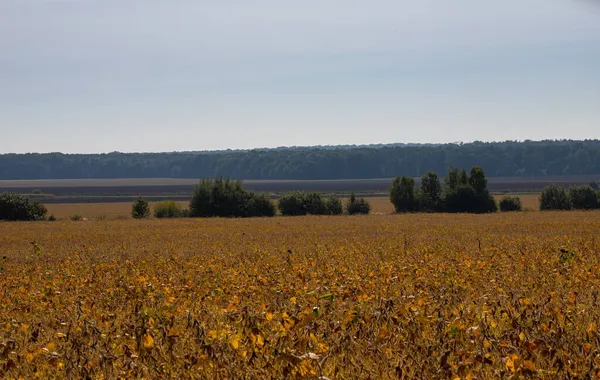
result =
[[600,190],[593,184],[572,186],[569,189],[556,185],[546,186],[540,194],[540,210],[597,210],[600,209]]

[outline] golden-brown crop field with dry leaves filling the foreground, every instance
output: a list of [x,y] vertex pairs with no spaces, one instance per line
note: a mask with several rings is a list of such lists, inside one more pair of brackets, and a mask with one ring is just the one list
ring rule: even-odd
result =
[[0,223],[1,378],[590,378],[600,213]]

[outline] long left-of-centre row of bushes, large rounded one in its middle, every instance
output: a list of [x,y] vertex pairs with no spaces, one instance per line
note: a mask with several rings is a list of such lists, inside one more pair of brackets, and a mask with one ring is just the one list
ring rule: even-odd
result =
[[[324,198],[316,192],[291,192],[284,194],[278,203],[281,215],[350,215],[368,214],[371,206],[364,199],[352,195],[345,205],[330,196]],[[240,181],[229,179],[204,179],[200,182],[184,209],[175,201],[162,201],[154,206],[157,218],[179,217],[272,217],[277,213],[275,203],[265,194],[244,190]],[[136,218],[150,216],[150,206],[141,197],[133,204],[131,215]]]

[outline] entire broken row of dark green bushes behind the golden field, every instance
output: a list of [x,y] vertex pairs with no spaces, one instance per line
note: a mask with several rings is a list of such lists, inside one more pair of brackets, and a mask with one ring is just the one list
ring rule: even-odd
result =
[[[434,172],[421,178],[415,188],[411,177],[397,177],[389,191],[390,201],[397,213],[446,212],[446,213],[492,213],[498,211],[521,211],[518,196],[508,195],[499,202],[487,189],[487,178],[482,168],[473,167],[469,173],[464,169],[450,168],[444,183]],[[600,186],[596,182],[569,189],[555,185],[546,186],[539,197],[540,210],[595,210],[600,209]],[[156,218],[181,217],[273,217],[277,210],[283,216],[301,215],[349,215],[369,214],[371,205],[354,194],[345,202],[335,195],[323,196],[318,192],[288,192],[275,203],[264,193],[243,188],[241,181],[228,178],[203,179],[196,187],[189,208],[173,200],[162,201],[154,206]],[[45,220],[46,207],[38,201],[15,193],[0,194],[0,220]],[[139,197],[132,205],[131,216],[148,218],[149,203]],[[81,220],[76,215],[72,220]],[[56,220],[50,216],[49,221]]]

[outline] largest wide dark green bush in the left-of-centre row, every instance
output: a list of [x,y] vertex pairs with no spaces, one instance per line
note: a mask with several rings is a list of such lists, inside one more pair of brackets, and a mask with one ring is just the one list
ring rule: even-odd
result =
[[248,192],[241,181],[203,179],[190,201],[192,217],[274,216],[275,205],[266,196]]

